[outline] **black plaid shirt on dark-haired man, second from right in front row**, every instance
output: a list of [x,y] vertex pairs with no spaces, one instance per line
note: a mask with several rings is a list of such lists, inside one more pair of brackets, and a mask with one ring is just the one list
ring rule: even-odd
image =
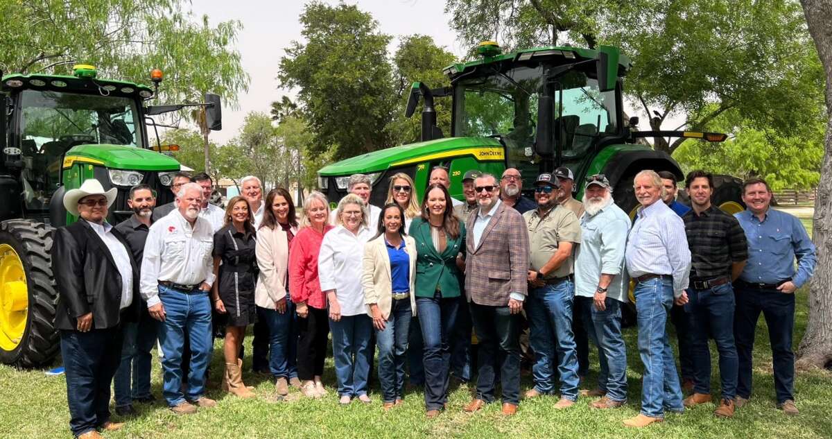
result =
[[685,221],[691,249],[691,279],[730,275],[730,266],[748,259],[748,244],[740,222],[713,205],[700,215],[691,210]]

